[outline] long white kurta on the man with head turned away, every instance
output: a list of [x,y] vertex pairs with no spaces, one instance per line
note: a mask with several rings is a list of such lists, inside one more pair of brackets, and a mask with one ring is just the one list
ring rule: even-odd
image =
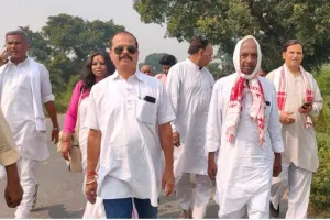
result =
[[213,85],[208,69],[199,69],[189,58],[169,69],[166,89],[176,114],[172,125],[182,142],[175,147],[175,177],[207,175],[206,124]]

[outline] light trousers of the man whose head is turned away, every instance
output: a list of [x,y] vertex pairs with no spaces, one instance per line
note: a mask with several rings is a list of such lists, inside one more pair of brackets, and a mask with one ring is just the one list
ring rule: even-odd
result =
[[189,210],[193,207],[193,218],[202,219],[211,197],[212,182],[209,176],[195,174],[196,194],[194,198],[190,174],[184,173],[176,183],[176,199],[182,209]]

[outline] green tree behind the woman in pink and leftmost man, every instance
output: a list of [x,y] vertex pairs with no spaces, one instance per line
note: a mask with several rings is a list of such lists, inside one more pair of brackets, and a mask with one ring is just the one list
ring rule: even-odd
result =
[[51,74],[55,92],[65,91],[72,76],[79,74],[92,52],[106,51],[109,40],[124,28],[110,21],[87,21],[79,16],[48,16],[42,31],[20,28],[30,40],[30,56],[43,63]]

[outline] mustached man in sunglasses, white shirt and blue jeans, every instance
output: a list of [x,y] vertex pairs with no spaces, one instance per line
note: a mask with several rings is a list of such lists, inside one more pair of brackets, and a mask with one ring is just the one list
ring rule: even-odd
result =
[[162,82],[136,69],[138,48],[131,33],[116,34],[109,54],[117,72],[89,96],[85,191],[92,204],[96,195],[103,199],[111,219],[132,218],[133,205],[139,218],[155,219],[161,184],[166,195],[174,189],[169,122],[175,116]]

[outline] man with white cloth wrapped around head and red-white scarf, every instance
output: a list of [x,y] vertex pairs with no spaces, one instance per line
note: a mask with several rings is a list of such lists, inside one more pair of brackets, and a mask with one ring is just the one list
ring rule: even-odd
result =
[[[249,218],[270,218],[272,176],[279,173],[273,172],[273,158],[275,153],[275,165],[280,167],[278,153],[284,146],[274,86],[257,76],[261,56],[253,36],[241,40],[233,56],[237,73],[219,79],[213,88],[207,151],[209,175],[217,180],[220,218],[240,219],[246,209]],[[239,99],[231,101],[239,81],[243,88]],[[237,103],[240,106],[232,111]]]

